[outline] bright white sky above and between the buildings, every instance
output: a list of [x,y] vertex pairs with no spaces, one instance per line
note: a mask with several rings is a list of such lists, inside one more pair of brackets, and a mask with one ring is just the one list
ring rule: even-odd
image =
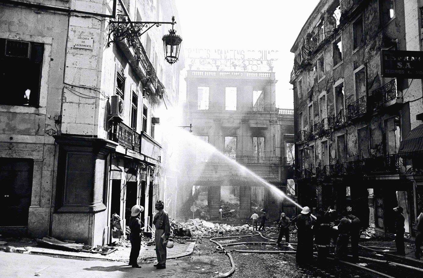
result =
[[[279,50],[276,106],[293,108],[289,51],[319,0],[175,0],[182,47]],[[183,81],[183,80],[181,80]],[[181,84],[181,99],[184,99]]]

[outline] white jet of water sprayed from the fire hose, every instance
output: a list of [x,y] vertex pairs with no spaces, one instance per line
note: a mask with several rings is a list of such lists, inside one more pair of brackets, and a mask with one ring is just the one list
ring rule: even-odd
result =
[[[170,111],[167,111],[167,113],[163,115],[165,117],[164,117],[164,121],[161,121],[160,129],[162,132],[162,137],[167,138],[167,141],[169,143],[170,149],[168,150],[168,152],[173,157],[170,160],[174,160],[173,164],[178,165],[177,167],[179,167],[179,169],[183,168],[184,166],[187,169],[195,170],[195,172],[201,173],[202,170],[204,169],[204,168],[201,168],[201,163],[197,163],[195,160],[191,160],[191,161],[188,160],[188,161],[185,161],[184,163],[181,163],[181,160],[179,157],[179,156],[187,156],[187,152],[190,151],[189,149],[201,150],[203,158],[216,160],[216,161],[219,161],[219,163],[222,163],[222,161],[225,162],[224,164],[225,164],[226,170],[231,171],[231,168],[233,168],[234,172],[236,172],[238,175],[248,177],[249,179],[256,181],[258,184],[263,184],[264,186],[268,187],[271,190],[271,192],[280,200],[286,199],[292,204],[294,204],[295,206],[297,206],[299,209],[303,209],[303,207],[300,204],[298,204],[292,198],[288,197],[283,191],[275,187],[275,185],[266,182],[263,178],[255,174],[253,171],[251,171],[244,165],[239,164],[235,160],[231,159],[231,157],[228,157],[222,152],[218,151],[211,144],[206,143],[203,140],[200,140],[197,136],[192,135],[192,133],[190,133],[186,129],[181,129],[180,127],[178,127],[178,123],[176,122],[176,119],[178,118],[176,116],[177,113],[174,113],[174,112],[169,113],[169,112]],[[169,116],[169,114],[171,114],[171,116]],[[206,157],[204,157],[204,155],[206,155]],[[181,165],[183,166],[181,167]],[[311,215],[311,216],[316,219],[314,215]]]

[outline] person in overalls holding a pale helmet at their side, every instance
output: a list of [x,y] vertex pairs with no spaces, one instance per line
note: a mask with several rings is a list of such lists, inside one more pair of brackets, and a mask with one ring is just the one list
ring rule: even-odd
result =
[[163,210],[165,204],[162,201],[157,201],[155,206],[157,210],[154,215],[153,224],[156,227],[154,238],[156,241],[156,255],[157,264],[154,264],[157,269],[166,268],[166,244],[170,236],[170,222],[168,214]]

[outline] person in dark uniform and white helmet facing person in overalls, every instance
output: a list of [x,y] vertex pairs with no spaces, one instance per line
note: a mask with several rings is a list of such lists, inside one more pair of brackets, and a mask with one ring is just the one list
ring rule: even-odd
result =
[[140,255],[141,249],[141,225],[140,214],[144,211],[143,206],[135,205],[131,209],[131,217],[129,218],[129,228],[131,232],[129,233],[129,242],[131,242],[131,253],[129,254],[129,266],[141,268],[138,265],[137,259]]

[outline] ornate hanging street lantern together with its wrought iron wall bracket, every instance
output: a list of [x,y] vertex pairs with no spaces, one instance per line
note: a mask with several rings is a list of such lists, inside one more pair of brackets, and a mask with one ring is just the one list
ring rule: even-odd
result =
[[162,40],[165,59],[168,63],[173,64],[179,59],[182,42],[181,36],[176,35],[176,31],[173,28],[176,24],[175,17],[172,17],[172,22],[110,21],[107,47],[112,42],[119,42],[124,39],[129,39],[131,43],[135,43],[135,37],[140,37],[153,26],[159,27],[162,24],[172,24],[172,30],[169,30],[169,34],[163,36]]

